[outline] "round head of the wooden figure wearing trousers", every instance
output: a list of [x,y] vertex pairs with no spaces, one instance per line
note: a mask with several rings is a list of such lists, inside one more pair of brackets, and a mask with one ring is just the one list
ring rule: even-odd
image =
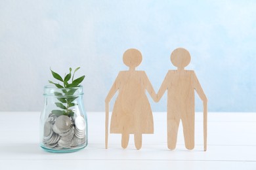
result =
[[171,63],[178,69],[184,69],[190,63],[190,59],[190,54],[185,48],[176,48],[171,53]]

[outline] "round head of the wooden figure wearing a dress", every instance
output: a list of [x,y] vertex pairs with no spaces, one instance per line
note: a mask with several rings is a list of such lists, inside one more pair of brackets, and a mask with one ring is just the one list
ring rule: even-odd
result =
[[139,50],[135,48],[130,48],[123,53],[123,63],[129,68],[135,69],[139,66],[142,61],[142,55]]

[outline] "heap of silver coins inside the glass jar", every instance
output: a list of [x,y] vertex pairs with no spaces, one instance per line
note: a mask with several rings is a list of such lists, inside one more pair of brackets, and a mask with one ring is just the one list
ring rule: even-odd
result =
[[49,148],[74,148],[85,143],[85,119],[49,114],[45,121],[43,143]]

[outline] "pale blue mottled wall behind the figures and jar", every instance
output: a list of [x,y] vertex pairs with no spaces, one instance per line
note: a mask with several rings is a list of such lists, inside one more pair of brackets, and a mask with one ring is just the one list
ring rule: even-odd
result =
[[[128,48],[158,91],[177,47],[189,50],[209,111],[256,111],[255,1],[0,1],[0,110],[41,110],[49,67],[86,75],[85,107],[104,99]],[[114,99],[112,100],[112,105]],[[152,110],[166,110],[166,94]],[[196,110],[202,104],[196,97]]]

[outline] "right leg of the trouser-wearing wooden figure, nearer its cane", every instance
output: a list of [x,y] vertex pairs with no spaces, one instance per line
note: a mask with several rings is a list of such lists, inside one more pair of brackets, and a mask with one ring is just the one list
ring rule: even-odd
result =
[[192,150],[195,146],[195,113],[186,112],[186,115],[182,116],[181,120],[183,126],[185,146],[188,150]]

